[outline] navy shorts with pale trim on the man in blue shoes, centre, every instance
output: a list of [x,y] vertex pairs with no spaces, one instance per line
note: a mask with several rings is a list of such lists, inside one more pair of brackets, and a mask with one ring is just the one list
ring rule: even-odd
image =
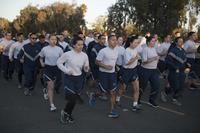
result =
[[117,89],[117,74],[99,71],[99,87],[103,92],[115,91]]

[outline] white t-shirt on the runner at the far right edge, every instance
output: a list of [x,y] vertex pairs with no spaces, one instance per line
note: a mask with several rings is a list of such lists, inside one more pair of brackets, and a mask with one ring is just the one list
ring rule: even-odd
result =
[[[191,40],[186,41],[184,43],[183,49],[186,51],[186,57],[187,58],[193,58],[193,59],[195,59],[195,53],[197,51],[197,48],[195,47],[195,42],[194,41],[191,41]],[[193,52],[193,53],[187,53],[187,50],[191,50],[191,49],[194,49],[195,52]]]

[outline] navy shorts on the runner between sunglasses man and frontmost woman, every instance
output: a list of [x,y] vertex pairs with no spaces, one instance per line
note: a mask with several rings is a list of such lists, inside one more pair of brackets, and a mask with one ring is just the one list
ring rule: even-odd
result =
[[44,80],[45,81],[54,81],[56,79],[59,79],[58,76],[60,76],[60,70],[57,66],[49,66],[46,65],[44,68]]

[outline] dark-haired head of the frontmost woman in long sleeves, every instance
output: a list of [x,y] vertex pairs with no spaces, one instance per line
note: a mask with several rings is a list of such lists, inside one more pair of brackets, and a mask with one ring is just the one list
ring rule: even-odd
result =
[[83,39],[80,37],[76,37],[72,41],[72,45],[76,52],[81,52],[83,49]]

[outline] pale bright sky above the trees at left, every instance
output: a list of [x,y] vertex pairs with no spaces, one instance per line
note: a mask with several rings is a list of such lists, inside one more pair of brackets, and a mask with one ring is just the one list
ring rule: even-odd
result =
[[77,5],[86,4],[87,13],[85,15],[88,24],[95,21],[100,15],[107,13],[107,8],[116,2],[116,0],[2,0],[0,4],[0,17],[12,21],[20,14],[20,10],[28,4],[43,7],[54,2],[76,3]]

